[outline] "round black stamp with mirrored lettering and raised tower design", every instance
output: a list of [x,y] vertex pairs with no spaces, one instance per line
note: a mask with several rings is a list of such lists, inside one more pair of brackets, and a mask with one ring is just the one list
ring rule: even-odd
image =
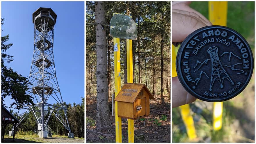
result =
[[222,102],[241,93],[251,79],[253,66],[248,42],[225,26],[206,26],[191,33],[176,59],[182,86],[208,102]]

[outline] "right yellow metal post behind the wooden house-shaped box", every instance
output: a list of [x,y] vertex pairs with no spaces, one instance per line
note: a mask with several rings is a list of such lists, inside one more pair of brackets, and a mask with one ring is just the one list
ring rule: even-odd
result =
[[[126,39],[127,54],[127,82],[133,83],[132,67],[132,40]],[[128,119],[128,142],[134,143],[134,120]]]

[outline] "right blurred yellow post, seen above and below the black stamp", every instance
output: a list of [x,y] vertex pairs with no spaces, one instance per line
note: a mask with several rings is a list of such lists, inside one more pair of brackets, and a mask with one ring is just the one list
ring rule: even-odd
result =
[[[209,2],[209,20],[213,25],[227,25],[227,1]],[[223,102],[213,103],[213,129],[220,130],[222,127]]]

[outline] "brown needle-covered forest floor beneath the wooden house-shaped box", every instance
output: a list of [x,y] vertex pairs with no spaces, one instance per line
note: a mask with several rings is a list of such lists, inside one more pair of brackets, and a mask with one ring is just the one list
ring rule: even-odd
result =
[[[96,100],[95,100],[96,101]],[[86,142],[112,142],[115,143],[115,117],[111,116],[112,104],[110,105],[110,124],[98,131],[96,129],[96,103],[91,99],[86,101]],[[128,122],[122,118],[122,142],[128,142]],[[165,97],[165,104],[161,99],[150,101],[150,115],[145,118],[134,120],[134,142],[138,143],[170,143],[170,99]]]

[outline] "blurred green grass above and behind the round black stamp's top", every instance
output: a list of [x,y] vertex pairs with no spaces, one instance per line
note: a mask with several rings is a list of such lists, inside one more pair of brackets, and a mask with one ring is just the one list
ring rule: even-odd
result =
[[[190,6],[209,19],[208,2],[192,2]],[[227,27],[243,35],[254,51],[254,1],[230,1],[227,6]]]

